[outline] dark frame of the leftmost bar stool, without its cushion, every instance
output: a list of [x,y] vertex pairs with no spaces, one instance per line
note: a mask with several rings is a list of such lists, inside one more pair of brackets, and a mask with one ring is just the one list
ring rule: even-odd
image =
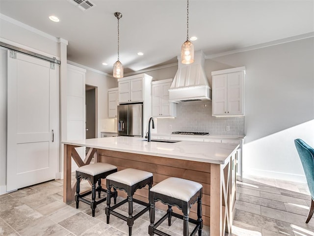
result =
[[[103,172],[103,173],[100,173],[98,175],[90,175],[90,174],[86,174],[86,173],[83,173],[83,172],[80,172],[80,171],[76,171],[76,178],[77,178],[77,194],[75,195],[75,201],[77,203],[77,208],[78,208],[78,203],[79,201],[83,202],[83,203],[86,203],[88,205],[90,205],[90,207],[92,208],[92,216],[94,217],[95,216],[95,209],[96,209],[96,206],[100,203],[103,203],[107,200],[107,198],[103,198],[99,201],[96,201],[96,191],[98,192],[98,198],[100,198],[100,194],[101,192],[107,192],[106,189],[103,189],[102,188],[102,178],[106,178],[108,175],[110,174],[113,174],[113,173],[116,173],[118,170],[117,169],[113,169],[113,170],[110,170],[110,171],[106,171],[106,172]],[[83,178],[83,179],[88,179],[91,181],[92,183],[92,190],[91,191],[88,191],[84,194],[79,194],[79,183],[80,183],[80,178]],[[96,189],[96,183],[98,182],[98,187]],[[86,197],[87,195],[89,194],[92,194],[92,201],[88,201],[86,199],[84,199],[84,197]],[[111,198],[114,199],[114,203],[117,202],[117,191],[114,191],[111,193]],[[110,197],[109,197],[110,198]]]

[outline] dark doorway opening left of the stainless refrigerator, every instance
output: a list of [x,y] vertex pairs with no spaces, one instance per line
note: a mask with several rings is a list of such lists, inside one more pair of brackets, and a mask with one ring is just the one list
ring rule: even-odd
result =
[[85,103],[86,139],[93,139],[98,136],[97,87],[85,85]]

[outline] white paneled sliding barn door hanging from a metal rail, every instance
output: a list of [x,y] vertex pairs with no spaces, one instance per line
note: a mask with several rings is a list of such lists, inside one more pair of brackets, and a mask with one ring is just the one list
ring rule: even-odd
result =
[[7,191],[54,179],[59,66],[8,51]]

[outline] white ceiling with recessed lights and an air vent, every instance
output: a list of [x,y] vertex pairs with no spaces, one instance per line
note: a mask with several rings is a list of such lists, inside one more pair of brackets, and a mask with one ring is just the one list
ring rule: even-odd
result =
[[[90,1],[96,6],[82,11],[69,0],[0,0],[0,13],[68,40],[68,60],[112,74],[118,11],[125,74],[178,61],[186,0]],[[313,0],[189,0],[189,36],[206,56],[313,31]]]

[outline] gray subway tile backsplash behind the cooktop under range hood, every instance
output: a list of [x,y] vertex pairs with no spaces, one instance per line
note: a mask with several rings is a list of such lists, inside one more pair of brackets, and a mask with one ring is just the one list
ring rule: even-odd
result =
[[[230,130],[226,130],[226,126]],[[157,133],[209,132],[213,135],[244,135],[244,117],[212,117],[211,101],[181,102],[176,118],[157,118]]]

